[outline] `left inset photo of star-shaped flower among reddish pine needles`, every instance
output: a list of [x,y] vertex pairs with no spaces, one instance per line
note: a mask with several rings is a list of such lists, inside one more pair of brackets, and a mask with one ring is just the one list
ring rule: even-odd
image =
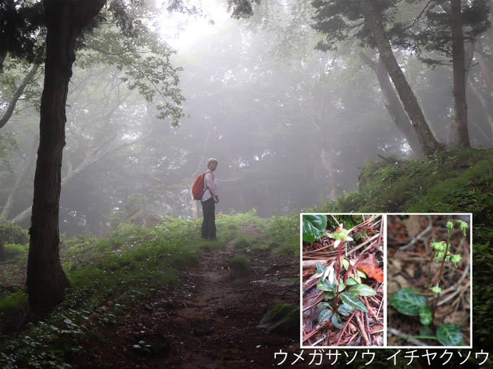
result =
[[384,217],[301,214],[301,347],[381,347]]

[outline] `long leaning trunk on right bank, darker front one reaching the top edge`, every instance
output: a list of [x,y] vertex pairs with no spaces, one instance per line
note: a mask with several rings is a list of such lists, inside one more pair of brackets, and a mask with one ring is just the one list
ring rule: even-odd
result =
[[411,120],[411,123],[416,130],[416,135],[420,142],[421,149],[425,154],[432,154],[433,151],[439,149],[439,144],[426,123],[423,111],[418,104],[416,96],[414,96],[411,87],[406,81],[404,73],[402,73],[397,60],[395,59],[392,47],[390,46],[389,39],[385,35],[385,29],[382,25],[382,21],[375,13],[372,1],[363,1],[363,12],[365,13],[366,20],[370,25],[370,29],[373,32],[373,37],[377,42],[378,52],[380,58],[382,58],[385,68],[387,68],[392,82],[399,94],[399,98],[402,101],[402,105]]

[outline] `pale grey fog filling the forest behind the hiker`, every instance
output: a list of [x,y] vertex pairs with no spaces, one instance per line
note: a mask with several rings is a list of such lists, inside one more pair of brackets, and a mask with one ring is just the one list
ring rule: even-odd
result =
[[[160,49],[170,57],[163,74],[179,77],[166,92],[156,92],[156,82],[145,77],[150,72],[142,65],[157,73],[149,61],[135,64],[132,73],[144,75],[142,85],[151,92],[132,82],[109,53],[101,56],[111,44],[77,55],[65,127],[61,232],[103,235],[142,209],[194,218],[192,183],[211,157],[218,159],[217,212],[256,209],[267,217],[298,213],[356,189],[368,160],[416,156],[363,61],[376,62],[375,49],[348,39],[336,50],[316,50],[323,35],[311,27],[306,1],[263,1],[251,18],[239,20],[221,1],[209,6],[202,15],[165,13],[156,20],[161,42],[175,49]],[[486,51],[490,44],[491,30],[482,35]],[[394,53],[433,134],[446,144],[453,114],[450,63],[432,68],[412,49],[396,46]],[[10,96],[5,79],[18,83],[31,68],[15,65],[2,76],[2,109]],[[489,147],[491,90],[478,56],[468,73],[470,142]],[[3,147],[11,148],[0,162],[1,216],[25,227],[43,78],[40,68],[1,130]],[[179,125],[156,118],[159,105],[176,108],[176,101],[182,101],[175,113]],[[8,146],[9,137],[18,145]]]

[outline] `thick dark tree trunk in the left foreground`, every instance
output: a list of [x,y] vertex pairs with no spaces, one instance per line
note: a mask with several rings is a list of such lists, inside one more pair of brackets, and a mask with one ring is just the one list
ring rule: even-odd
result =
[[99,13],[104,0],[44,0],[46,62],[39,120],[39,149],[27,260],[30,308],[46,313],[60,303],[69,286],[59,256],[58,208],[65,104],[75,61],[75,40]]

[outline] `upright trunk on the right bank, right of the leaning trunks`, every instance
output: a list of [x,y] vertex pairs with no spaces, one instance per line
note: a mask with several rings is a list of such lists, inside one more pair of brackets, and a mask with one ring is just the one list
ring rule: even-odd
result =
[[452,32],[453,95],[455,109],[455,124],[452,129],[456,130],[457,143],[463,147],[470,147],[461,0],[450,0],[450,27]]

